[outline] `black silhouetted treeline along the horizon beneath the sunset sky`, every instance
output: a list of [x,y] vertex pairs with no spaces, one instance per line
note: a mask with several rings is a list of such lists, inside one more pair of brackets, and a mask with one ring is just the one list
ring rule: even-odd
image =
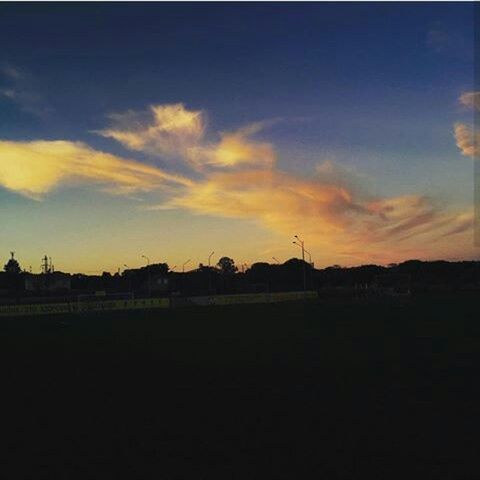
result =
[[114,275],[33,275],[0,273],[0,297],[75,296],[131,293],[135,296],[209,295],[316,290],[324,294],[362,291],[455,291],[480,289],[480,262],[409,260],[389,266],[330,266],[315,269],[292,258],[283,264],[258,262],[239,270],[223,257],[215,267],[199,265],[188,272],[170,270],[166,263],[127,269]]

